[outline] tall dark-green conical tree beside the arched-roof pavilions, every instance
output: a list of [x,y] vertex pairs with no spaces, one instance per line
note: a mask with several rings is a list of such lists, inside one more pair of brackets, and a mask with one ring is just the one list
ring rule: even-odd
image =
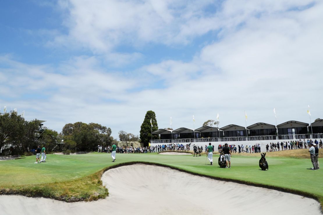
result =
[[152,134],[151,138],[151,124],[150,124],[150,119],[152,123],[152,132],[158,130],[158,124],[156,120],[156,114],[153,111],[147,111],[145,115],[145,119],[143,120],[141,124],[141,129],[140,129],[140,139],[141,142],[144,143],[144,146],[148,146],[148,142],[152,139],[158,139],[157,134]]

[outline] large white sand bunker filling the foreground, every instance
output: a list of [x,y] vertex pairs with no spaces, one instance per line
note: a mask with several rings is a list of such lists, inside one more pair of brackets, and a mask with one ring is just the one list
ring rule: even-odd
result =
[[110,193],[104,200],[66,203],[4,195],[0,214],[321,214],[313,199],[165,167],[123,166],[105,172],[102,181]]

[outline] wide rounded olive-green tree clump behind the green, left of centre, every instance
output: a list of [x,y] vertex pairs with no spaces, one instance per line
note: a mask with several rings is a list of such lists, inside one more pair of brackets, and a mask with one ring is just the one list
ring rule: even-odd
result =
[[113,141],[111,129],[98,123],[67,123],[63,129],[67,149],[76,151],[96,150],[97,145],[110,145]]

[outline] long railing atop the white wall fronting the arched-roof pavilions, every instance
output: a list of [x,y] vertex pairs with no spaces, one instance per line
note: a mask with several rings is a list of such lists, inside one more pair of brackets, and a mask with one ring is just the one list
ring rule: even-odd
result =
[[151,143],[191,143],[191,142],[231,142],[231,141],[262,141],[262,140],[307,140],[323,139],[323,134],[288,134],[288,135],[266,135],[248,137],[213,137],[213,138],[188,138],[188,139],[166,139],[151,140]]

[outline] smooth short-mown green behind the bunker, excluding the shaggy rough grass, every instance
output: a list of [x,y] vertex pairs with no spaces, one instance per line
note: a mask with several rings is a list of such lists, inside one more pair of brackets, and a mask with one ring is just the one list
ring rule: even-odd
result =
[[[80,155],[49,154],[46,163],[35,164],[35,156],[26,159],[0,161],[0,188],[20,185],[37,185],[63,182],[89,176],[106,167],[123,162],[145,161],[160,163],[185,171],[225,179],[242,180],[269,186],[304,191],[323,197],[323,170],[311,171],[310,159],[296,159],[266,156],[269,170],[261,171],[259,157],[233,155],[232,168],[219,168],[218,155],[214,154],[214,165],[205,165],[206,156],[187,155],[117,154],[116,162],[111,162],[111,154],[90,153]],[[319,159],[323,163],[323,159]],[[144,183],[145,178],[142,181]]]

